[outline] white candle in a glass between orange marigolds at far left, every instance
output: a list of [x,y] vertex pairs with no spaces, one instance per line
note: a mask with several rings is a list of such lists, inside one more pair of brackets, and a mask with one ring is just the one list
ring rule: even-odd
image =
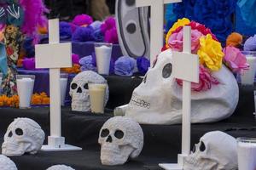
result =
[[17,79],[18,95],[20,99],[20,108],[29,108],[33,93],[34,80],[24,77]]

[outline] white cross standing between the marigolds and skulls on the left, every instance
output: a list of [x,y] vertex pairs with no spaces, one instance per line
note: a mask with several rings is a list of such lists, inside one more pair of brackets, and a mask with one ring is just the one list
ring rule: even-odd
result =
[[[61,137],[60,68],[72,67],[71,43],[60,43],[59,20],[49,20],[49,44],[36,45],[36,68],[49,68],[50,136],[42,150],[81,150]],[[43,83],[43,82],[42,82]]]

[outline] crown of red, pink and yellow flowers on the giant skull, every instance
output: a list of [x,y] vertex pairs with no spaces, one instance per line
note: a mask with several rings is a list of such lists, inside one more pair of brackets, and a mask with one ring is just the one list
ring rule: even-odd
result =
[[[223,62],[236,73],[248,69],[247,59],[238,48],[228,46],[223,50],[209,28],[187,18],[177,20],[168,31],[163,50],[183,51],[183,26],[191,26],[191,51],[200,59],[200,82],[192,83],[192,90],[206,91],[212,85],[218,85],[218,79],[212,76],[212,72],[219,71]],[[182,85],[182,81],[177,79],[177,84]]]

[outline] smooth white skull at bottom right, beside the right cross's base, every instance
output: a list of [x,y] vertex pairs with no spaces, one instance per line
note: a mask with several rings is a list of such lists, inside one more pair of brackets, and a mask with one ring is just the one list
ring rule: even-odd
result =
[[214,131],[206,133],[184,161],[184,170],[236,170],[236,139]]

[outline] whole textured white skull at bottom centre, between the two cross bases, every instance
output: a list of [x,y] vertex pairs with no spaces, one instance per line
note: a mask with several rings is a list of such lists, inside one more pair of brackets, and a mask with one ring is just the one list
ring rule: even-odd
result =
[[130,117],[115,116],[104,123],[99,144],[103,165],[122,165],[143,150],[143,129]]

